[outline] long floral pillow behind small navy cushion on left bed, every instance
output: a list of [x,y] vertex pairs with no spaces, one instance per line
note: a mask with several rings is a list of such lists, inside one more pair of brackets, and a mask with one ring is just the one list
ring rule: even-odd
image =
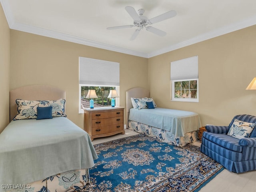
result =
[[64,110],[64,99],[59,100],[41,100],[41,101],[29,101],[16,99],[18,114],[13,120],[21,119],[36,119],[37,107],[49,107],[52,106],[52,117],[66,117]]

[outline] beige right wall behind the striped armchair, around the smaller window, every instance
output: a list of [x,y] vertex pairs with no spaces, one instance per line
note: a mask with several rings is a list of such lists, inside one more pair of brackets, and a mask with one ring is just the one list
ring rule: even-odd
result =
[[[256,116],[256,25],[148,59],[151,96],[160,107],[200,114],[202,124],[228,125],[236,114]],[[198,55],[199,102],[170,101],[170,62]]]

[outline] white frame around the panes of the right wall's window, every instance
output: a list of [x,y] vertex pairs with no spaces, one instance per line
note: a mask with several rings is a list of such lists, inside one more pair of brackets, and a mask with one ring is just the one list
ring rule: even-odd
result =
[[[192,81],[192,80],[197,80],[197,91],[196,91],[196,98],[175,98],[175,82],[180,82],[180,81]],[[181,79],[181,80],[171,80],[171,87],[172,87],[172,99],[171,101],[181,101],[181,102],[199,102],[199,81],[198,78],[193,78],[193,79]],[[190,90],[190,89],[189,89]]]

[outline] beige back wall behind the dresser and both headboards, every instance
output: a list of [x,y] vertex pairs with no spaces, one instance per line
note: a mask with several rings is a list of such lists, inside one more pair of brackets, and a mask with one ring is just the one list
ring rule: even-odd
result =
[[81,128],[84,117],[78,114],[79,56],[120,63],[120,106],[125,106],[126,90],[136,86],[149,88],[146,58],[17,30],[11,30],[10,36],[10,89],[44,84],[66,90],[67,116]]

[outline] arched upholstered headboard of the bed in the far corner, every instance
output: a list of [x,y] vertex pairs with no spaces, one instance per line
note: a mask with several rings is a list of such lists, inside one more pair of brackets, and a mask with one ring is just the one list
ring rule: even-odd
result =
[[149,90],[141,87],[135,87],[126,91],[126,124],[127,125],[128,125],[130,108],[132,108],[131,97],[134,97],[134,98],[149,97]]

